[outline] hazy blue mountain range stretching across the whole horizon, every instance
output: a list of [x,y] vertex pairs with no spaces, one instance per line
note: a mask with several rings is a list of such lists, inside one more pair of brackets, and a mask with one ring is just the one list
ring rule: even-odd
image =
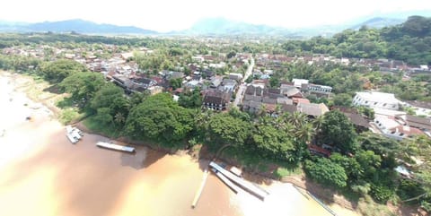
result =
[[383,28],[404,22],[405,19],[375,17],[363,22],[347,23],[343,25],[325,25],[315,28],[286,29],[268,25],[235,22],[225,18],[206,18],[196,22],[188,30],[177,30],[160,33],[154,30],[145,30],[134,26],[118,26],[112,24],[99,24],[80,19],[60,22],[1,22],[0,31],[3,32],[76,32],[82,34],[136,34],[136,35],[251,35],[251,36],[287,36],[311,37],[316,35],[330,36],[341,30],[359,29],[366,25],[369,28]]

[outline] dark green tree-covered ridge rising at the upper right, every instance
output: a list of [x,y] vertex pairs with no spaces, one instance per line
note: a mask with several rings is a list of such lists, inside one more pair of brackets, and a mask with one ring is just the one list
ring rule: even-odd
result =
[[288,41],[282,47],[292,53],[391,58],[409,65],[431,65],[431,18],[411,16],[400,25],[382,30],[364,26],[359,30],[344,30],[330,39]]

